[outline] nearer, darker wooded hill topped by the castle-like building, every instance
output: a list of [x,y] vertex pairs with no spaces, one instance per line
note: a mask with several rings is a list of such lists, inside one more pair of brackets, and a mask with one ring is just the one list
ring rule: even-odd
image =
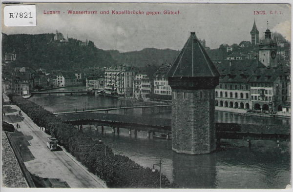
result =
[[95,47],[92,41],[79,46],[80,40],[69,38],[67,43],[50,42],[54,34],[2,34],[2,56],[17,53],[14,67],[45,68],[47,70],[84,69],[115,65],[112,56]]

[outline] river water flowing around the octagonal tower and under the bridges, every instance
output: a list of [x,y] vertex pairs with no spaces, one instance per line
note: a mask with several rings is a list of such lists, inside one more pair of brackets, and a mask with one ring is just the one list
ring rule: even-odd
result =
[[[36,95],[29,100],[52,112],[133,104],[131,100],[85,94]],[[109,113],[124,114],[124,110]],[[266,125],[291,123],[290,119],[282,118],[240,116],[220,111],[215,114],[216,122]],[[142,110],[128,110],[127,115],[135,118],[142,115]],[[158,109],[147,109],[144,115],[171,118],[171,111],[164,109],[159,113]],[[186,155],[173,152],[170,140],[148,138],[144,131],[129,135],[128,130],[120,129],[117,135],[112,134],[112,128],[105,127],[102,135],[101,130],[89,130],[88,126],[84,126],[84,131],[102,140],[105,140],[106,133],[107,145],[115,154],[126,155],[144,167],[152,168],[153,164],[162,159],[162,173],[180,188],[284,189],[291,180],[291,142],[288,141],[280,142],[278,148],[275,141],[252,140],[252,147],[248,148],[245,140],[222,139],[222,146],[215,153]]]

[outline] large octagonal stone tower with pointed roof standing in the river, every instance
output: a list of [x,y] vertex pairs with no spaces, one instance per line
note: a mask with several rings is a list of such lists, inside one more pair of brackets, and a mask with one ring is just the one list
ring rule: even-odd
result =
[[215,150],[215,87],[219,72],[191,32],[167,73],[172,88],[172,150],[207,154]]

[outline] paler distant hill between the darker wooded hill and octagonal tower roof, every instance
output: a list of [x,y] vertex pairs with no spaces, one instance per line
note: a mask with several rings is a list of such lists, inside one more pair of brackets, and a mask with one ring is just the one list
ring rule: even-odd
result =
[[179,54],[179,51],[155,48],[145,48],[141,51],[126,53],[119,53],[117,50],[109,50],[108,52],[118,63],[134,65],[136,67],[145,67],[147,64],[172,64]]

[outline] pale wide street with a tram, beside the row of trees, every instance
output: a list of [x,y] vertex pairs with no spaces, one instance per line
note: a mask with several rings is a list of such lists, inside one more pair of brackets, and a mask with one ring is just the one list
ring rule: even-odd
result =
[[[17,124],[21,128],[16,133],[23,134],[26,141],[22,142],[20,153],[24,164],[30,173],[43,178],[58,178],[66,181],[71,188],[106,188],[104,181],[96,175],[89,173],[71,154],[62,147],[58,151],[51,152],[47,149],[47,137],[26,114],[16,116],[20,108],[16,105],[6,105],[6,114],[3,120]],[[9,110],[7,110],[9,109]],[[13,134],[11,134],[13,137]],[[20,146],[20,145],[19,145]]]

